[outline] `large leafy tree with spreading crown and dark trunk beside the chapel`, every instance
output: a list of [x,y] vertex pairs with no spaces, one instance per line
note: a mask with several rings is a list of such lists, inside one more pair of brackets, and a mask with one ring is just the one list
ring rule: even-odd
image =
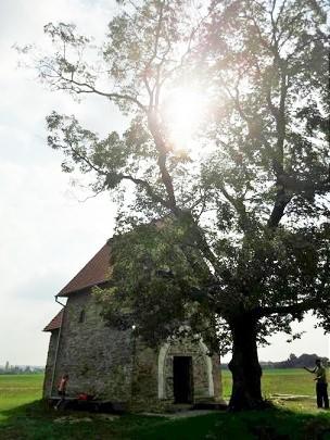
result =
[[330,327],[327,2],[118,3],[98,63],[63,23],[37,63],[53,89],[127,116],[105,138],[47,118],[63,169],[120,204],[104,316],[149,340],[185,322],[232,343],[230,406],[261,406],[257,343],[307,311]]

